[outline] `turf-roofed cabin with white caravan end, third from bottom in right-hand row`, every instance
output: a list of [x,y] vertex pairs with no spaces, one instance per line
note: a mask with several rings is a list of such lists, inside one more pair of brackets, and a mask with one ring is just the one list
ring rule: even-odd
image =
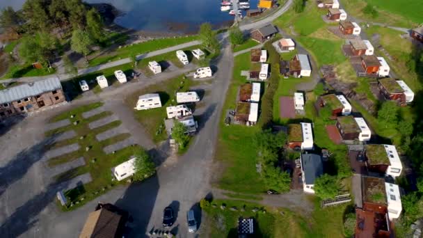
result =
[[364,118],[353,118],[353,116],[337,117],[336,127],[344,141],[369,141],[372,132]]

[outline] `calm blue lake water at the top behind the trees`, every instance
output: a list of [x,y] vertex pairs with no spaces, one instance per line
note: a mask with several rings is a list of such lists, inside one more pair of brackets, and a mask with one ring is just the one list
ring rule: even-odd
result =
[[[250,0],[251,9],[258,0]],[[214,26],[234,19],[221,12],[220,0],[88,0],[88,3],[110,3],[122,12],[115,23],[130,29],[152,32],[192,32],[203,22]],[[0,0],[0,8],[19,9],[24,0]],[[245,11],[243,12],[245,15]]]

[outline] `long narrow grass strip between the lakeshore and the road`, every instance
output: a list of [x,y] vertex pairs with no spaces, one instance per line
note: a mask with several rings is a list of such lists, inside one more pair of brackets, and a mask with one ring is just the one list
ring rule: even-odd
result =
[[149,40],[146,42],[141,42],[134,45],[127,45],[121,47],[120,49],[116,49],[113,53],[107,54],[105,56],[97,56],[95,58],[91,58],[89,65],[95,66],[100,65],[103,63],[111,62],[111,61],[118,61],[121,58],[128,58],[132,54],[144,54],[151,51],[156,51],[159,49],[164,49],[167,47],[172,47],[174,45],[180,45],[186,42],[190,42],[193,40],[197,40],[197,35],[189,35],[177,38],[163,38],[157,40]]

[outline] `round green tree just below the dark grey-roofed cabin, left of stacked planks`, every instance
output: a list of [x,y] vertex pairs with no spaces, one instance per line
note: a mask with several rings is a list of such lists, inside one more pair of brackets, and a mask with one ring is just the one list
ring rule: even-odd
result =
[[321,199],[334,198],[340,191],[340,182],[335,176],[321,175],[314,180],[314,191]]

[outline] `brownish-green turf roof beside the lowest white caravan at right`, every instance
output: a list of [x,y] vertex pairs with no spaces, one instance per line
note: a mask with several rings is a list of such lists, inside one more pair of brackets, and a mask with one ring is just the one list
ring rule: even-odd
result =
[[362,177],[362,200],[364,203],[388,205],[385,180],[378,177]]

